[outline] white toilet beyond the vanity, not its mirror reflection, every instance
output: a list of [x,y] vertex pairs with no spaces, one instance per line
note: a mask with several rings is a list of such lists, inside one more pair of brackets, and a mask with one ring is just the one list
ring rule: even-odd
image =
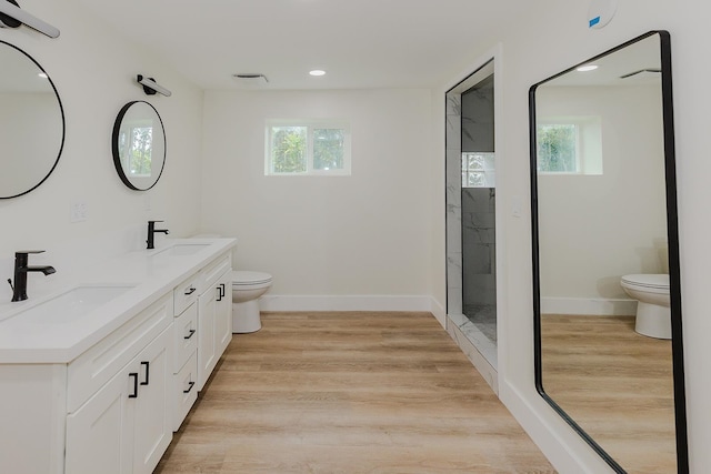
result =
[[232,272],[232,332],[250,333],[262,327],[259,296],[271,286],[271,275],[262,272]]

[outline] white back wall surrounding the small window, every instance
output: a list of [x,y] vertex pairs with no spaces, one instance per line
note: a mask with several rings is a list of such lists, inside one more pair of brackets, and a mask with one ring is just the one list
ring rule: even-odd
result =
[[[208,91],[202,229],[272,295],[428,295],[431,91]],[[352,175],[264,177],[267,119],[343,119]]]

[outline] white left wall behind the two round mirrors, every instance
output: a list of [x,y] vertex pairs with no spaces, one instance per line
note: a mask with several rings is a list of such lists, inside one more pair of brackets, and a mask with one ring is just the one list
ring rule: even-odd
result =
[[[202,92],[161,64],[159,58],[91,18],[73,0],[26,0],[22,8],[59,28],[60,37],[49,39],[21,27],[0,29],[0,40],[23,49],[52,78],[64,108],[67,133],[61,159],[50,178],[29,194],[0,200],[2,281],[11,276],[17,250],[44,249],[48,252],[37,256],[34,263],[57,268],[57,274],[50,278],[29,275],[30,286],[36,289],[61,280],[81,259],[88,242],[111,240],[113,252],[122,250],[118,246],[141,245],[148,219],[166,219],[173,236],[196,232]],[[136,84],[138,73],[156,77],[173,95],[149,98]],[[121,183],[111,155],[113,122],[121,107],[133,100],[146,100],[158,109],[168,137],[166,170],[147,193]],[[151,210],[146,209],[147,196]],[[76,202],[86,203],[87,221],[70,223],[70,208]],[[0,299],[9,301],[10,296],[9,285],[0,285]]]

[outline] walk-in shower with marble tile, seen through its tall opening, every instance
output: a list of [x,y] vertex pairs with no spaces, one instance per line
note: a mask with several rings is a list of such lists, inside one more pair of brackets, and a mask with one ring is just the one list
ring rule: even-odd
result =
[[495,370],[493,85],[490,61],[447,93],[447,313],[457,329],[450,334],[472,362],[483,356]]

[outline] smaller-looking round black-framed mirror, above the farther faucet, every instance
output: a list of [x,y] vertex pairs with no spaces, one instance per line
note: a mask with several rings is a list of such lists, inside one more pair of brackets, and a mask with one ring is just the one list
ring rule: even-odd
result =
[[156,108],[144,101],[123,105],[113,124],[111,150],[123,184],[136,191],[153,188],[166,165],[166,131]]

